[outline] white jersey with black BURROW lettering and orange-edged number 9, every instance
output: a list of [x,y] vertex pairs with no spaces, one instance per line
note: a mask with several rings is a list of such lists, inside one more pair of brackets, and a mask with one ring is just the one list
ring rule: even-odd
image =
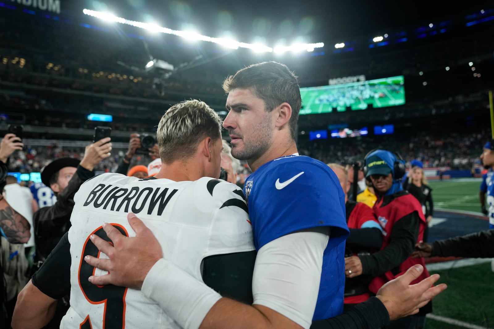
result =
[[142,292],[87,281],[93,273],[107,273],[83,260],[86,255],[107,258],[89,240],[91,234],[108,240],[103,222],[135,236],[127,213],[136,214],[153,231],[165,259],[201,281],[205,257],[255,250],[244,194],[225,181],[204,177],[174,182],[102,174],[82,184],[74,200],[69,230],[71,307],[60,328],[180,328]]

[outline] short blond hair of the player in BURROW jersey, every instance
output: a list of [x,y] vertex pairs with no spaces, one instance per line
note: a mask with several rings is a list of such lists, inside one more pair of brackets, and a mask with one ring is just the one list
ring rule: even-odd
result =
[[156,138],[163,163],[187,160],[206,137],[221,138],[221,118],[206,103],[184,101],[169,108],[160,120]]

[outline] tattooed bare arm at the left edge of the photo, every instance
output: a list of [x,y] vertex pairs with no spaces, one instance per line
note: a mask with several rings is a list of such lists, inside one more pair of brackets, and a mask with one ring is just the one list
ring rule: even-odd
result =
[[0,195],[0,227],[10,243],[26,243],[31,237],[31,225],[21,214],[10,207]]

